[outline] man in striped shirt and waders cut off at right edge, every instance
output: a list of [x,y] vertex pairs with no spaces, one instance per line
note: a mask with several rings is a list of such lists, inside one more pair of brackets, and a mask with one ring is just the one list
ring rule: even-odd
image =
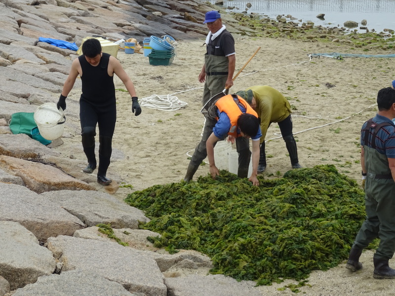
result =
[[361,130],[362,178],[366,180],[366,220],[362,223],[346,268],[362,269],[362,249],[378,237],[373,256],[375,279],[395,279],[389,260],[395,253],[395,89],[383,88],[377,95],[379,112],[366,121]]

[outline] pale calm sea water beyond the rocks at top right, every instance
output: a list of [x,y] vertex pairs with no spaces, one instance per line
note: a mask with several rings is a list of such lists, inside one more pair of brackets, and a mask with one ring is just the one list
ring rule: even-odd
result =
[[[212,4],[215,2],[211,0]],[[342,27],[345,21],[355,21],[359,32],[366,32],[359,30],[361,21],[366,20],[365,27],[370,31],[395,30],[395,0],[236,0],[224,1],[223,7],[227,12],[243,12],[247,3],[251,3],[247,14],[254,12],[273,19],[289,14],[302,22],[312,21],[324,27]],[[325,14],[324,20],[316,17],[320,13]]]

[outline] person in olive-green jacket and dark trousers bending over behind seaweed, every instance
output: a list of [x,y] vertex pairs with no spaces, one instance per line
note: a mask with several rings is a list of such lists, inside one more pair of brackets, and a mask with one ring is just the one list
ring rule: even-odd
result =
[[292,134],[291,106],[288,100],[278,90],[267,85],[251,86],[236,94],[250,104],[261,120],[262,137],[258,173],[262,173],[266,169],[265,137],[272,122],[278,123],[292,168],[302,168],[298,160],[296,141]]

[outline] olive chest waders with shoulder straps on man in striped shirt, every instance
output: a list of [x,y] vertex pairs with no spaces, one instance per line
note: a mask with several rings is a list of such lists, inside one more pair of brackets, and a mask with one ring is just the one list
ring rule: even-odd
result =
[[[395,253],[395,182],[391,175],[387,156],[376,150],[378,131],[383,126],[389,125],[392,124],[389,122],[377,124],[369,119],[364,129],[363,150],[367,170],[365,209],[367,217],[356,235],[350,253],[350,259],[352,259],[353,250],[354,253],[357,253],[356,255],[360,256],[361,250],[367,247],[373,239],[376,237],[380,239],[379,247],[373,256],[373,277],[375,279],[395,279],[395,270],[390,268],[388,264],[389,259]],[[369,134],[371,132],[371,147],[369,147]],[[354,258],[354,261],[357,262],[359,256]],[[362,268],[361,264],[360,268]]]

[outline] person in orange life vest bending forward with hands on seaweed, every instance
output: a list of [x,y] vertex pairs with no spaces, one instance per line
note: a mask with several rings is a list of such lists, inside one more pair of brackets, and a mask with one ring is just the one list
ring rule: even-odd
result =
[[215,179],[219,170],[215,166],[214,146],[227,135],[236,138],[238,152],[237,176],[246,178],[251,158],[249,138],[252,140],[252,174],[248,179],[253,185],[259,186],[257,179],[259,162],[259,140],[262,136],[258,114],[248,103],[237,95],[227,95],[218,99],[210,108],[210,116],[215,116],[217,123],[206,142],[207,157],[210,165],[210,175]]

